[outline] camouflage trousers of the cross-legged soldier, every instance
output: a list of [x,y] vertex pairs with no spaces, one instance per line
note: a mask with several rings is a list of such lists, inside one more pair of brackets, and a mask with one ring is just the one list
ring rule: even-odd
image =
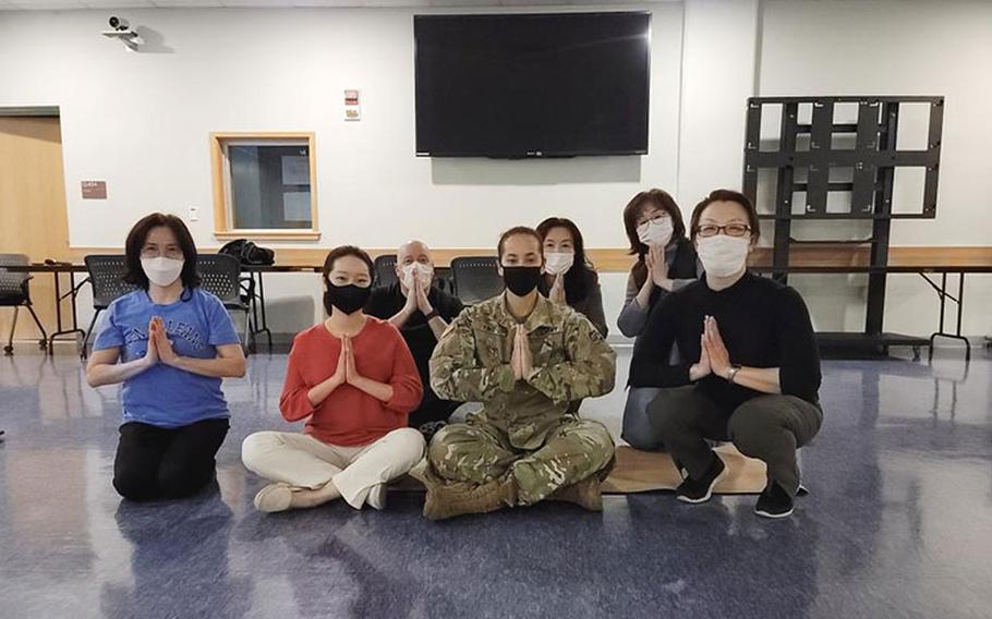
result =
[[434,471],[450,482],[485,484],[512,475],[519,505],[533,505],[558,488],[612,464],[614,440],[606,426],[566,417],[535,450],[510,445],[506,433],[476,420],[441,428],[427,448]]

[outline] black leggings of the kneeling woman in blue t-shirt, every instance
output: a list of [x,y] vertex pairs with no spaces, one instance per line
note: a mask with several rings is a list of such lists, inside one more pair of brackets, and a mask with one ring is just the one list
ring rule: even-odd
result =
[[113,461],[113,487],[131,500],[195,494],[214,478],[214,457],[229,427],[228,420],[205,420],[177,428],[138,422],[122,425]]

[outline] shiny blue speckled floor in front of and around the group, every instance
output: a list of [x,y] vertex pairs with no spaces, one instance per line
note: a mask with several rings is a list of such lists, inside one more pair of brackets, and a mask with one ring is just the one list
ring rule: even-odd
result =
[[[812,495],[788,521],[650,494],[434,524],[415,494],[252,509],[240,442],[288,427],[285,355],[227,384],[219,491],[122,503],[117,390],[21,347],[0,357],[0,617],[992,617],[992,360],[976,349],[965,376],[961,357],[824,362]],[[618,428],[621,392],[586,406]]]

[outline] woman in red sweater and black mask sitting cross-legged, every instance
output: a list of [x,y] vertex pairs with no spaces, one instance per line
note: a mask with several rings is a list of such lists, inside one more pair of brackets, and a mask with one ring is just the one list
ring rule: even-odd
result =
[[297,335],[279,410],[306,420],[304,434],[259,432],[241,459],[271,480],[255,496],[259,511],[323,505],[342,497],[383,509],[386,483],[424,454],[424,438],[407,427],[423,396],[413,355],[396,327],[362,311],[372,291],[372,259],[353,246],[324,260],[329,318]]

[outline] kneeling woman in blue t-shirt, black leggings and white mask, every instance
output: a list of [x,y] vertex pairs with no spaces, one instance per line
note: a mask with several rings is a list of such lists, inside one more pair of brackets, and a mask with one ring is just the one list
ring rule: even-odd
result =
[[113,487],[146,500],[194,494],[214,478],[229,423],[220,379],[244,376],[244,352],[220,300],[199,288],[196,246],[176,216],[134,224],[124,281],[86,366],[90,387],[123,383]]

